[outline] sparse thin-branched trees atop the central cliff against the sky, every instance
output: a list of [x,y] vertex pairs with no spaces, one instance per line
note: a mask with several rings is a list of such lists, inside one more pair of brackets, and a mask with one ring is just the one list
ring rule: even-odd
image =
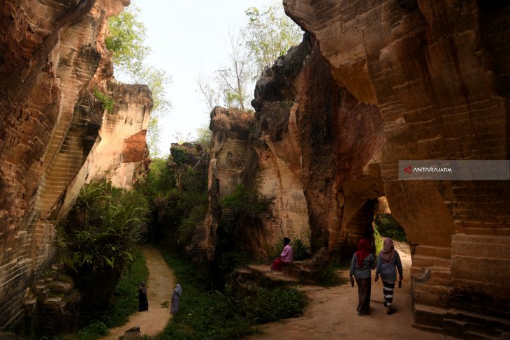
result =
[[303,31],[285,15],[281,3],[263,10],[250,7],[245,13],[245,27],[228,34],[228,63],[213,75],[198,77],[198,92],[208,110],[223,105],[248,111],[252,82],[303,38]]

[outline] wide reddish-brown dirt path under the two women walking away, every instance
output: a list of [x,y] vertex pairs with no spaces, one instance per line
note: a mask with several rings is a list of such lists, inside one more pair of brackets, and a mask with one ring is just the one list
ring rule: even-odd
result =
[[[400,340],[434,340],[453,339],[440,334],[433,334],[417,330],[411,326],[411,293],[409,267],[411,256],[409,248],[403,244],[396,244],[402,265],[404,267],[404,281],[402,288],[395,288],[393,306],[398,312],[392,316],[386,315],[386,307],[382,295],[382,283],[374,283],[372,272],[372,295],[370,300],[370,315],[358,316],[358,288],[350,284],[333,288],[319,286],[303,286],[309,297],[309,305],[303,316],[283,320],[280,323],[262,325],[263,334],[248,337],[247,340],[372,340],[372,339],[400,339]],[[268,270],[268,272],[270,272]],[[342,276],[349,277],[347,271]]]

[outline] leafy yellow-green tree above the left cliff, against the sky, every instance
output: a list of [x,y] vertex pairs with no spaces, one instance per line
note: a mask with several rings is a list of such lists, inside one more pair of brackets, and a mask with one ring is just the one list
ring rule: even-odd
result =
[[165,87],[171,78],[165,71],[145,64],[150,47],[145,45],[146,30],[144,24],[138,20],[139,11],[138,7],[131,6],[119,15],[110,17],[109,34],[105,38],[105,43],[112,52],[117,77],[126,82],[147,84],[152,92],[154,107],[147,128],[147,144],[151,154],[159,154],[158,121],[170,110],[171,104],[165,96]]

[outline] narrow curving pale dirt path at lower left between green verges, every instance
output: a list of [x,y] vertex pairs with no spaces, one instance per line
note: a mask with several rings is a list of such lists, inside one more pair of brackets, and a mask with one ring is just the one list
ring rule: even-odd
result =
[[[175,277],[163,260],[163,256],[153,246],[144,245],[141,248],[147,268],[149,279],[147,281],[147,299],[149,311],[137,312],[129,317],[126,325],[112,328],[105,340],[117,340],[131,327],[140,327],[142,335],[154,336],[159,334],[168,324],[170,319],[170,300]],[[164,306],[163,306],[164,305]]]

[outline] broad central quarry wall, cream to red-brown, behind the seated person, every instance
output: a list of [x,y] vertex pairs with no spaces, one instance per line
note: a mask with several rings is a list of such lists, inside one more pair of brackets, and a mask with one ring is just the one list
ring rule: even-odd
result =
[[[379,110],[337,85],[308,34],[265,69],[252,105],[254,115],[212,111],[210,214],[189,249],[211,260],[218,226],[237,223],[236,241],[258,258],[284,236],[351,256],[351,245],[372,235],[375,202],[384,195]],[[218,202],[239,183],[256,187],[269,211],[233,221]]]

